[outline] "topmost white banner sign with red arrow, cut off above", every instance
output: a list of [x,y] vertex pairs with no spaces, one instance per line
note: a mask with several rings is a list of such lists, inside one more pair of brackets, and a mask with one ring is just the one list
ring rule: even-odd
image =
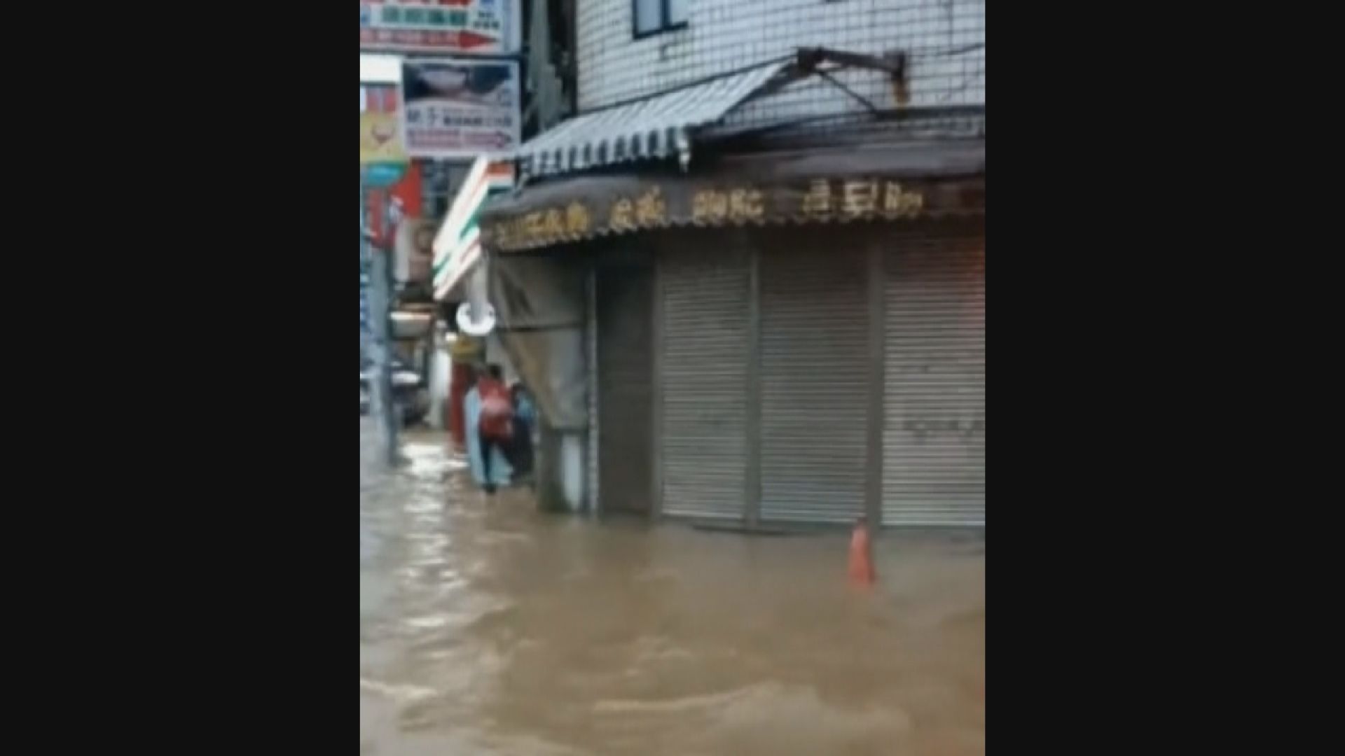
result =
[[522,47],[519,0],[359,0],[359,48],[511,55]]

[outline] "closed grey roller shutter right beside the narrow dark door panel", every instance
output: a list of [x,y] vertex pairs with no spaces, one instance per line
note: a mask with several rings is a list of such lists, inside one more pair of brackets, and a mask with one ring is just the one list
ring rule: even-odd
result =
[[741,250],[686,246],[670,249],[659,262],[662,511],[741,519],[746,486],[748,258]]

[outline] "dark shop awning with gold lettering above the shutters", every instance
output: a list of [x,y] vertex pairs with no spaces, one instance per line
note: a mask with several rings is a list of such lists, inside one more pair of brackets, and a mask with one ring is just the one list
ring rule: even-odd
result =
[[986,207],[985,140],[855,143],[697,161],[694,175],[580,175],[502,196],[482,213],[482,243],[522,252],[655,229],[908,222]]

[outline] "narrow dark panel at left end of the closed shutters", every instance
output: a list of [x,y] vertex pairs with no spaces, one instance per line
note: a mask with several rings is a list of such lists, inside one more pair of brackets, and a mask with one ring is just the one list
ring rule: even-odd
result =
[[599,508],[648,513],[652,494],[650,268],[597,273]]

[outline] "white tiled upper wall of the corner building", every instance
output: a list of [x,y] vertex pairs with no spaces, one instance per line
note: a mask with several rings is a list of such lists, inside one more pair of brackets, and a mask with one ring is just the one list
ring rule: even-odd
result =
[[[687,1],[687,28],[635,39],[633,0],[578,0],[581,112],[818,46],[905,51],[911,106],[985,104],[985,0]],[[838,78],[877,108],[893,106],[881,75],[846,71]],[[812,78],[744,108],[730,125],[859,110],[863,105]]]

